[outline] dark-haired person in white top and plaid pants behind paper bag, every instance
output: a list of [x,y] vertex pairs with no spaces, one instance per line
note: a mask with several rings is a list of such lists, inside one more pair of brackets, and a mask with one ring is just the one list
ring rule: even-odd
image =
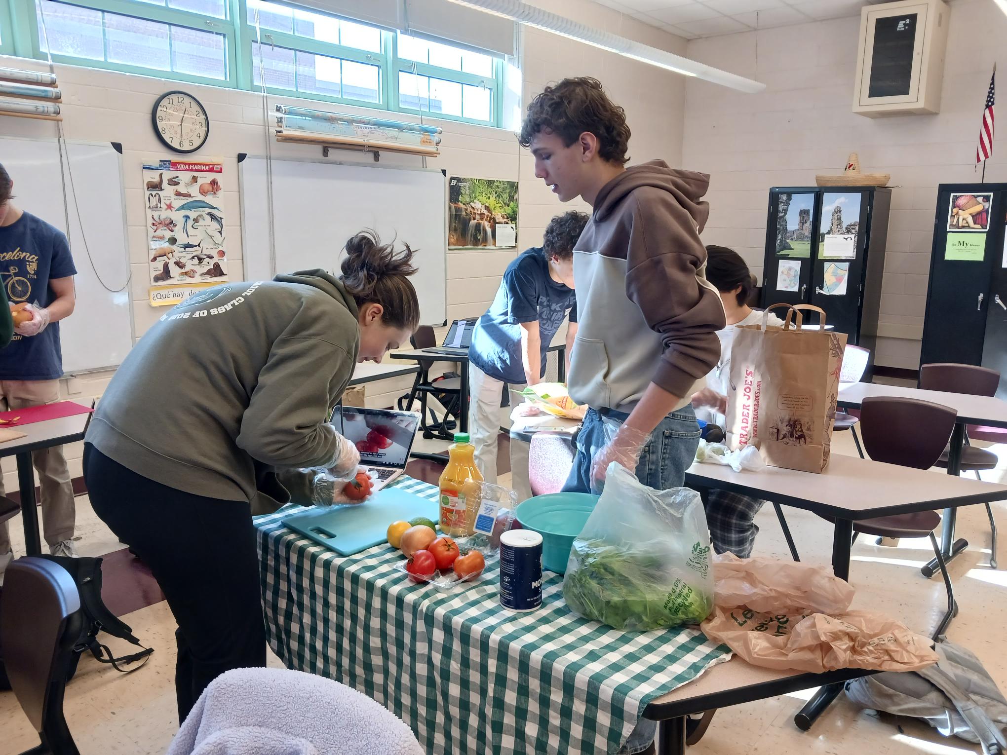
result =
[[[706,248],[706,279],[720,292],[724,303],[727,325],[717,331],[720,339],[720,359],[706,376],[706,387],[693,394],[692,403],[696,416],[726,430],[727,389],[731,379],[731,346],[734,344],[735,327],[762,322],[762,312],[748,306],[752,290],[752,277],[741,256],[725,247]],[[769,313],[770,325],[783,321]],[[710,525],[710,540],[717,553],[730,551],[747,559],[752,554],[758,526],[753,519],[764,500],[727,490],[710,490],[706,497],[706,520]]]

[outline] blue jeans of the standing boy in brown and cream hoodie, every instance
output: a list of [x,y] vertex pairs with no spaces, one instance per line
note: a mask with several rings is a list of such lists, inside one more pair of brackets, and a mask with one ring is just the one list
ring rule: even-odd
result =
[[[604,421],[607,419],[610,425],[621,425],[628,417],[622,412],[607,409],[602,412],[604,417],[597,410],[589,409],[584,417],[584,424],[577,435],[577,456],[574,457],[573,469],[563,486],[564,490],[590,492],[591,460],[612,435],[612,428],[606,429]],[[668,415],[643,446],[636,465],[636,478],[655,490],[681,487],[685,484],[686,470],[696,458],[699,435],[692,405]],[[643,752],[654,742],[657,733],[657,722],[640,719],[619,750],[620,755]]]

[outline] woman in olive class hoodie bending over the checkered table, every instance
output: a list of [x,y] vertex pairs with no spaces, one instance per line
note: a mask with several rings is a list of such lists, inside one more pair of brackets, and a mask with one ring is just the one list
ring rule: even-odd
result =
[[266,664],[252,513],[289,500],[273,468],[352,476],[359,455],[329,411],[356,362],[381,361],[418,325],[409,247],[364,233],[346,254],[338,279],[308,270],[179,304],[133,347],[92,420],[91,502],[178,622],[179,720],[215,676]]

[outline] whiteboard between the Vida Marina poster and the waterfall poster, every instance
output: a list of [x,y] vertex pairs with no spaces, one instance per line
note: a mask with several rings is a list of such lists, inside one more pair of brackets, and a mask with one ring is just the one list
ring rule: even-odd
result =
[[419,251],[411,280],[421,323],[444,321],[447,188],[441,171],[274,158],[274,265],[266,158],[246,157],[239,169],[247,279],[311,268],[338,275],[346,240],[372,229],[384,243],[398,239]]

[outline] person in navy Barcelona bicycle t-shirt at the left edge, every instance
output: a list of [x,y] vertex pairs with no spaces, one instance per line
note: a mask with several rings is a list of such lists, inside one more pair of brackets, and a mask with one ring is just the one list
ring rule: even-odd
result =
[[[14,327],[0,350],[0,411],[59,401],[62,358],[59,325],[74,311],[77,270],[61,232],[15,207],[14,182],[0,165],[0,286],[10,307],[26,305],[32,318]],[[4,305],[7,306],[7,305]],[[77,556],[74,488],[62,446],[32,454],[41,484],[42,531],[53,556]],[[0,477],[0,495],[4,492]],[[13,558],[8,522],[0,523],[0,574]]]

